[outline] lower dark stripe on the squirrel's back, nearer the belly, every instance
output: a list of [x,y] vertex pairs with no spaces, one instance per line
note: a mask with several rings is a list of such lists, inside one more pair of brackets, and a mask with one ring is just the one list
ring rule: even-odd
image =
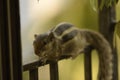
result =
[[73,30],[62,37],[63,43],[73,39],[78,34],[77,30]]

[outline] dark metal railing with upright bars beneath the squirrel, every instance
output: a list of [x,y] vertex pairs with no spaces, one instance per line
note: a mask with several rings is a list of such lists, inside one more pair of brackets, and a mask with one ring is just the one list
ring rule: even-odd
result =
[[[87,48],[85,51],[85,80],[92,80],[91,72],[91,48]],[[66,59],[68,57],[63,56],[60,60]],[[49,64],[50,69],[50,80],[59,80],[59,71],[58,71],[58,62],[47,61],[45,65]],[[38,68],[43,66],[42,62],[35,61],[23,66],[23,71],[29,71],[30,80],[39,80],[38,79]]]

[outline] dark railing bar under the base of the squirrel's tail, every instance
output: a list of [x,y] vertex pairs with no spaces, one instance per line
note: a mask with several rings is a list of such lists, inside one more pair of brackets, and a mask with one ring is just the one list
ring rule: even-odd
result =
[[91,51],[92,51],[91,47],[88,47],[85,50],[85,55],[84,55],[85,80],[92,80]]

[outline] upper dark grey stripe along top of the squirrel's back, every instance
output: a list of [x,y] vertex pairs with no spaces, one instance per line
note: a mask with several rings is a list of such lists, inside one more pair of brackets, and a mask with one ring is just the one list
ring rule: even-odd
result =
[[58,25],[58,27],[56,27],[54,32],[56,33],[57,36],[60,36],[60,35],[62,35],[62,33],[64,31],[66,31],[67,29],[71,28],[72,26],[73,26],[72,24],[65,24],[65,23],[63,23],[63,24]]

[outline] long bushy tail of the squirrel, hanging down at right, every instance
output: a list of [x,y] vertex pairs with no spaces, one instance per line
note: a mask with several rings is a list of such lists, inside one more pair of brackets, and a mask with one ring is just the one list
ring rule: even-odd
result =
[[82,31],[88,43],[98,52],[99,74],[98,80],[112,80],[113,55],[109,42],[99,33],[90,30]]

